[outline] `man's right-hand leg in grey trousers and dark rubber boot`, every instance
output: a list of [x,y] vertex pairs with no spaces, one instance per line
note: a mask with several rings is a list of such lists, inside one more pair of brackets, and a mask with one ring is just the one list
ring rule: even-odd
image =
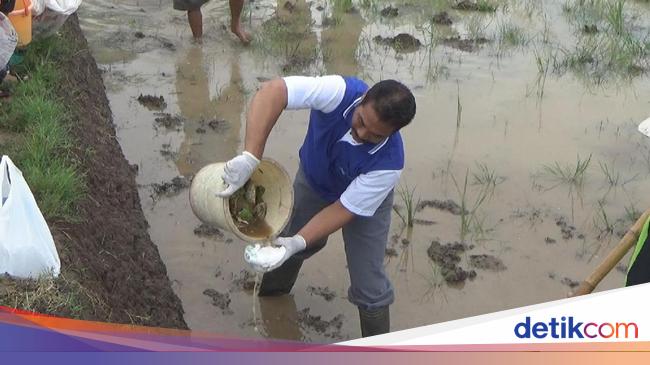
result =
[[345,255],[350,273],[348,300],[359,308],[363,337],[390,332],[389,305],[393,286],[384,270],[390,230],[393,192],[372,217],[357,216],[343,227]]

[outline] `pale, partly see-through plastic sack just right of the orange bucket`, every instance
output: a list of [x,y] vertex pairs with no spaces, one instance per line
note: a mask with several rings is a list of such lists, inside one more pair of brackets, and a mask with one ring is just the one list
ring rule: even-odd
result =
[[[44,38],[56,33],[68,16],[81,5],[81,0],[32,0],[34,1],[32,32],[34,38]],[[40,4],[38,4],[40,2]]]

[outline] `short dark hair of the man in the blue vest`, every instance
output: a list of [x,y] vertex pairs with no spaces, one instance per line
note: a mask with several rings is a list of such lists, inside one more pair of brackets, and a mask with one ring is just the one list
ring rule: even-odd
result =
[[366,92],[361,104],[371,103],[379,120],[399,130],[415,116],[415,97],[399,81],[382,80]]

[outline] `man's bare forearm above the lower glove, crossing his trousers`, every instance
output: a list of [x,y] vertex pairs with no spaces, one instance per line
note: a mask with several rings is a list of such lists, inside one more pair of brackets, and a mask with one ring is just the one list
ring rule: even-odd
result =
[[354,214],[347,210],[341,204],[340,200],[337,200],[318,212],[318,214],[302,227],[298,234],[305,239],[307,247],[309,247],[311,242],[336,232],[339,228],[348,224],[353,218]]

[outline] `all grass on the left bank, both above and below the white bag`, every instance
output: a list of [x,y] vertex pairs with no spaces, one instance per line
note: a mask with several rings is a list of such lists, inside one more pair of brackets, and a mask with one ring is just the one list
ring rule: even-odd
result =
[[[84,197],[85,178],[73,155],[69,108],[58,96],[64,75],[60,65],[73,57],[68,42],[54,36],[32,42],[23,63],[14,67],[16,83],[5,82],[12,96],[0,107],[0,130],[15,135],[4,153],[21,169],[43,215],[76,221],[76,204]],[[57,237],[59,252],[65,239]],[[64,254],[62,253],[62,256]],[[70,318],[96,318],[108,313],[106,304],[81,286],[76,273],[38,280],[0,278],[0,305]]]

